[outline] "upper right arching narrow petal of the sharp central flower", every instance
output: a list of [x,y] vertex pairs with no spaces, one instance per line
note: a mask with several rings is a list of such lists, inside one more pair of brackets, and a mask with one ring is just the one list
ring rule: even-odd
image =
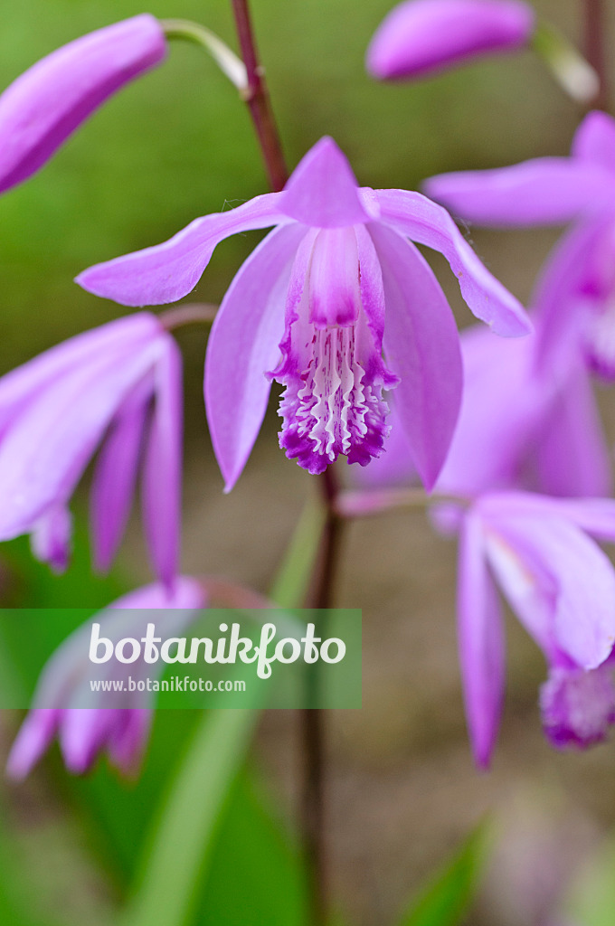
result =
[[520,303],[483,266],[446,209],[420,193],[378,190],[376,194],[383,224],[446,257],[477,319],[486,321],[496,334],[517,337],[532,331]]

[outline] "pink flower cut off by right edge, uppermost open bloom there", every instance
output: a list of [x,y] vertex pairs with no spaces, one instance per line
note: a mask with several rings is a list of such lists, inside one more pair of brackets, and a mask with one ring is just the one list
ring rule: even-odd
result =
[[549,258],[533,303],[542,319],[541,364],[566,367],[574,355],[615,380],[615,121],[590,113],[570,157],[443,174],[426,183],[463,219],[497,227],[573,222]]

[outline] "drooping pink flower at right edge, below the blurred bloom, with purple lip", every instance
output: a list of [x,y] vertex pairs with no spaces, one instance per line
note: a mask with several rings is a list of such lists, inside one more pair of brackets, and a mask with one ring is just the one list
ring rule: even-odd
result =
[[554,745],[603,739],[615,720],[609,656],[615,571],[589,539],[615,541],[615,503],[522,493],[478,498],[461,520],[458,632],[476,762],[489,764],[504,691],[503,624],[494,579],[546,657],[541,692]]

